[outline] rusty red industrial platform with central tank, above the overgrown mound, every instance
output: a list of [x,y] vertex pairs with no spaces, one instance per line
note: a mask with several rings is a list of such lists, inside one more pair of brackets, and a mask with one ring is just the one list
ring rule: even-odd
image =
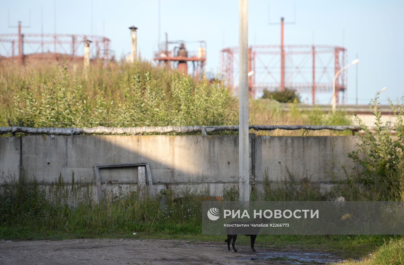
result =
[[[187,50],[188,44],[197,43],[197,50]],[[169,46],[174,46],[170,50]],[[192,63],[192,74],[197,78],[206,74],[206,42],[196,41],[187,42],[183,40],[168,41],[166,34],[166,41],[163,42],[158,51],[154,52],[154,61],[163,63],[167,67],[177,68],[179,72],[187,74],[188,63]]]

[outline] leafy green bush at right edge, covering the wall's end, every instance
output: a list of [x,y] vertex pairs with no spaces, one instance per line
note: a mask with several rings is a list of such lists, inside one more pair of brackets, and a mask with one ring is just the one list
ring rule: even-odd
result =
[[359,164],[351,179],[370,190],[375,195],[373,200],[404,200],[404,97],[397,101],[398,109],[389,100],[397,118],[395,137],[390,135],[391,124],[381,121],[377,99],[378,97],[372,105],[374,131],[355,115],[355,120],[364,133],[359,136],[358,149],[349,154]]

